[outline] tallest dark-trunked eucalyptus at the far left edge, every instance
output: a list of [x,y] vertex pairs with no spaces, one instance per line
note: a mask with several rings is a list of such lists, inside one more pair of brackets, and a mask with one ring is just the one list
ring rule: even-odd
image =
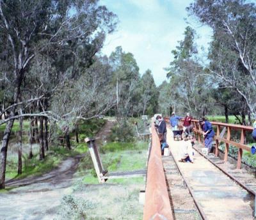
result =
[[13,120],[17,118],[15,113],[19,106],[20,90],[28,76],[31,62],[36,53],[50,51],[51,58],[54,58],[58,57],[56,55],[59,52],[67,51],[62,53],[62,59],[55,60],[54,66],[58,67],[56,74],[60,81],[69,70],[65,63],[68,55],[76,54],[79,52],[77,47],[83,47],[89,66],[93,55],[102,46],[106,33],[113,31],[116,24],[115,15],[98,3],[97,0],[0,0],[0,42],[4,43],[0,53],[10,58],[7,77],[13,84],[10,116],[1,122],[8,123],[0,153],[0,189],[4,188],[6,153]]

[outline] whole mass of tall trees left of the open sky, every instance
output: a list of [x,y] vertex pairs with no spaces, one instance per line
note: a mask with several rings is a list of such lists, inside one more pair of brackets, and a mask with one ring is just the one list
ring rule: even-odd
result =
[[0,125],[6,125],[0,189],[15,120],[20,124],[20,174],[24,120],[30,123],[29,158],[33,143],[38,143],[44,161],[48,141],[56,138],[54,127],[62,130],[71,149],[70,132],[81,120],[104,113],[123,118],[156,111],[150,70],[141,77],[134,56],[122,47],[109,58],[99,54],[117,22],[99,0],[0,0]]

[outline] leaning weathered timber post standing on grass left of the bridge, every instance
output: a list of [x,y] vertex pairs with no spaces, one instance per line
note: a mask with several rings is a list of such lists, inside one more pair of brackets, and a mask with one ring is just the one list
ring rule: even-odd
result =
[[106,180],[102,178],[106,171],[104,171],[102,162],[100,160],[99,151],[95,144],[95,139],[85,138],[84,141],[88,144],[89,152],[92,157],[93,166],[95,168],[98,180],[100,183],[104,183]]

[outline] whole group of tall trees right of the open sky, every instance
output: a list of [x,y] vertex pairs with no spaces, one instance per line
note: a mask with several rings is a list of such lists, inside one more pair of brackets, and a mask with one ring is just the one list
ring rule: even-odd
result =
[[248,116],[250,124],[256,117],[255,3],[196,0],[187,10],[212,28],[209,63],[200,61],[195,30],[188,26],[167,68],[173,99],[167,108],[195,116],[219,112],[225,114],[226,122],[228,115],[234,114],[241,124]]

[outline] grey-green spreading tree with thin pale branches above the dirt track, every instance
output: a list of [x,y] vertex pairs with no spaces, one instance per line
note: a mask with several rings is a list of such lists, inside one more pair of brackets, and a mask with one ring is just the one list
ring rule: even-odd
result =
[[[81,120],[104,114],[116,104],[115,87],[111,84],[112,68],[108,58],[97,58],[85,72],[72,82],[67,79],[52,96],[51,112],[58,116],[67,148],[71,149],[69,134]],[[83,70],[79,70],[83,71]]]

